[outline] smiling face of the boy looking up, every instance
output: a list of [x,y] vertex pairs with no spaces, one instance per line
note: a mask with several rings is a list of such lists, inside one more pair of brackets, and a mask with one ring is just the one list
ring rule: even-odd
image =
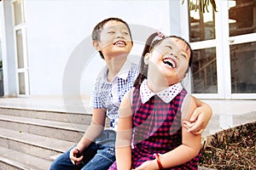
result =
[[105,59],[127,56],[132,48],[131,35],[124,23],[109,20],[102,29],[97,50],[102,51]]

